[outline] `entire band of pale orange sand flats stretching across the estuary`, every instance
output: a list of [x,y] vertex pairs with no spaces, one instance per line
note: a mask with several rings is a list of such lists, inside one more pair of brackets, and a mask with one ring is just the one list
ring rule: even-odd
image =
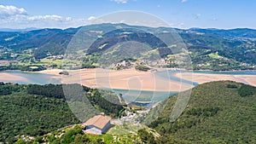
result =
[[[162,71],[183,71],[177,68],[157,68],[156,72]],[[70,70],[69,75],[61,75],[61,69],[48,69],[38,72],[28,73],[43,73],[52,75],[51,78],[59,78],[63,84],[78,83],[91,88],[107,88],[107,89],[130,89],[143,91],[169,91],[177,92],[194,88],[191,84],[181,84],[175,80],[161,78],[155,75],[155,72],[141,72],[134,67],[124,70],[110,70],[102,68],[84,68],[79,70]],[[8,72],[24,72],[20,70],[2,71],[4,75],[1,79],[5,81],[25,81],[26,78],[11,74]],[[239,75],[239,74],[224,74],[224,73],[201,73],[204,70],[192,72],[177,72],[173,77],[189,80],[197,84],[204,84],[212,81],[231,80],[243,84],[256,86],[256,75]],[[256,71],[205,71],[205,72],[256,72]],[[192,79],[191,79],[192,76]],[[158,85],[155,85],[158,84]]]

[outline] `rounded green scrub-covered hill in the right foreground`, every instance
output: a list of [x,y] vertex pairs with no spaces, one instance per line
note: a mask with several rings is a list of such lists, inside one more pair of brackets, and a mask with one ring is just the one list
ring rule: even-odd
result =
[[166,143],[256,143],[255,87],[229,81],[201,84],[192,90],[183,114],[171,123],[176,98],[170,97],[149,125],[166,135]]

